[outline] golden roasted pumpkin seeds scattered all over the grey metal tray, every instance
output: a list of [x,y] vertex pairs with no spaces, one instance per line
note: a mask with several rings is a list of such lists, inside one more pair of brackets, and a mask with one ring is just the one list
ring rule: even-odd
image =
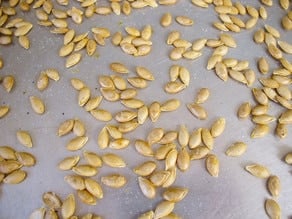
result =
[[[237,116],[239,119],[250,118],[255,124],[251,131],[251,138],[261,138],[270,132],[270,124],[277,122],[275,133],[279,138],[288,136],[287,126],[292,124],[292,93],[291,74],[292,64],[288,55],[292,54],[292,44],[281,39],[280,31],[275,27],[265,24],[253,33],[256,44],[265,47],[270,58],[279,66],[272,69],[266,57],[258,57],[256,60],[261,77],[257,78],[256,70],[250,67],[247,60],[229,57],[228,53],[236,49],[233,33],[252,30],[262,20],[268,18],[267,7],[272,7],[272,0],[261,0],[260,7],[244,5],[231,0],[191,0],[194,6],[202,9],[213,8],[219,21],[212,23],[213,27],[220,31],[215,38],[198,38],[192,42],[183,38],[183,33],[172,30],[168,32],[164,43],[172,46],[168,58],[177,62],[195,62],[201,58],[204,50],[211,50],[211,55],[206,62],[206,69],[214,71],[215,75],[224,82],[229,79],[250,88],[256,105],[245,101],[239,107]],[[13,43],[17,38],[21,47],[28,50],[31,47],[29,33],[33,24],[17,16],[19,10],[28,12],[34,9],[38,25],[49,28],[53,34],[62,35],[62,45],[58,55],[65,57],[65,67],[76,66],[84,54],[98,56],[100,46],[112,43],[120,47],[126,55],[134,57],[150,55],[153,46],[154,26],[147,24],[141,30],[134,26],[126,26],[124,33],[111,33],[109,28],[94,25],[88,32],[77,33],[78,28],[73,29],[72,22],[81,25],[84,19],[94,15],[107,16],[130,15],[132,10],[142,8],[157,8],[165,5],[175,5],[178,0],[111,0],[107,5],[99,4],[96,0],[80,0],[76,7],[71,6],[69,0],[9,0],[1,2],[0,8],[0,46]],[[281,24],[284,30],[292,29],[292,11],[289,0],[279,0],[281,8],[287,11],[282,17]],[[6,6],[7,5],[7,6]],[[61,8],[61,9],[59,9]],[[289,11],[290,10],[290,11]],[[171,13],[161,16],[158,23],[167,31],[173,24],[183,26],[186,30],[195,27],[195,21],[186,15],[177,15],[173,18]],[[85,52],[83,52],[83,50]],[[101,54],[102,55],[102,54]],[[0,57],[0,69],[4,66],[5,57]],[[57,136],[74,136],[65,145],[67,152],[79,153],[79,155],[66,156],[58,164],[61,171],[68,174],[64,181],[75,190],[77,197],[87,205],[96,205],[97,201],[104,197],[103,186],[121,188],[127,185],[130,179],[119,173],[120,168],[127,167],[129,157],[118,155],[119,150],[135,147],[138,154],[147,158],[146,161],[133,168],[137,175],[137,184],[141,193],[148,199],[154,199],[158,190],[162,190],[161,200],[153,210],[141,214],[140,219],[181,218],[174,213],[175,205],[182,201],[188,194],[188,188],[175,186],[177,171],[185,173],[189,170],[193,160],[204,160],[205,168],[212,177],[220,175],[219,156],[213,150],[216,138],[224,132],[226,119],[219,117],[210,128],[200,127],[189,131],[187,125],[180,125],[177,130],[165,130],[163,127],[154,127],[148,132],[145,139],[129,139],[127,133],[134,132],[143,126],[146,121],[155,123],[161,113],[176,111],[179,107],[187,108],[196,119],[207,120],[208,111],[204,103],[211,95],[209,88],[200,88],[194,101],[181,106],[181,100],[170,98],[164,102],[153,100],[150,103],[142,100],[139,93],[146,89],[149,83],[156,80],[155,72],[150,67],[128,67],[128,63],[113,60],[108,64],[112,71],[110,74],[99,74],[97,85],[100,87],[100,95],[94,95],[92,89],[81,79],[74,77],[70,83],[78,92],[76,100],[79,107],[105,125],[97,133],[97,145],[99,149],[113,149],[115,153],[104,151],[97,153],[86,150],[86,144],[90,138],[86,132],[86,126],[79,118],[68,118],[58,124]],[[51,81],[59,81],[61,75],[56,69],[45,69],[38,74],[36,89],[38,95],[29,97],[31,108],[37,115],[46,112],[46,104],[42,99],[42,93],[49,89]],[[173,64],[169,68],[170,80],[164,84],[164,91],[174,95],[191,87],[192,74],[190,69]],[[259,86],[254,84],[259,81]],[[13,92],[15,79],[13,75],[3,76],[1,85],[7,93]],[[115,114],[102,108],[103,103],[119,102],[122,109]],[[279,115],[269,113],[271,103],[276,103],[281,109]],[[0,119],[9,118],[10,107],[0,106]],[[25,147],[33,147],[32,137],[27,130],[19,130],[16,133],[17,140]],[[235,141],[230,144],[225,154],[229,157],[242,156],[248,149],[243,141]],[[292,163],[291,152],[284,157],[287,164]],[[161,168],[163,164],[164,168]],[[0,147],[0,182],[17,184],[26,178],[23,166],[35,165],[35,158],[28,152],[18,152],[12,147]],[[94,177],[99,174],[101,168],[114,168],[115,173],[103,175],[100,182]],[[245,170],[255,177],[267,179],[267,189],[271,198],[266,198],[265,210],[270,218],[280,218],[281,208],[277,198],[280,195],[281,183],[276,175],[271,175],[270,170],[258,163],[245,166]],[[69,173],[70,172],[70,173]],[[34,218],[78,218],[75,215],[77,203],[74,194],[70,194],[64,201],[53,192],[43,194],[45,207],[33,211],[30,215]],[[98,219],[97,215],[88,213],[81,218]]]

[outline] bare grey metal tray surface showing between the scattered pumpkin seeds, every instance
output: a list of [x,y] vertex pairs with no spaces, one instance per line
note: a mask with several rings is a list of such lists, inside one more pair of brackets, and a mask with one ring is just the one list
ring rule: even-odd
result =
[[[242,1],[254,6],[259,6],[258,1]],[[252,41],[255,29],[270,24],[277,27],[281,32],[281,38],[291,42],[291,32],[285,32],[280,28],[280,18],[284,11],[280,9],[278,1],[274,6],[267,8],[269,17],[260,20],[256,28],[244,30],[240,34],[232,34],[237,40],[238,47],[230,49],[227,57],[248,60],[250,67],[260,74],[256,68],[256,59],[264,56],[271,62],[271,68],[277,64],[266,53],[264,45],[256,45]],[[159,25],[159,19],[163,13],[170,12],[173,16],[187,15],[195,20],[192,27],[182,27],[176,22],[168,28]],[[249,135],[253,124],[249,119],[240,121],[236,117],[236,110],[243,101],[254,103],[250,89],[229,80],[224,83],[219,80],[213,71],[205,69],[206,60],[211,54],[211,49],[205,48],[202,57],[196,61],[170,61],[168,58],[170,46],[166,45],[165,39],[172,30],[179,30],[184,39],[193,41],[201,37],[217,38],[219,31],[211,27],[211,23],[217,20],[213,8],[200,9],[191,5],[189,1],[181,0],[176,6],[159,7],[157,9],[135,10],[129,17],[95,16],[85,20],[80,26],[72,25],[77,32],[85,32],[94,26],[109,27],[111,32],[123,31],[126,26],[135,26],[141,29],[146,24],[151,24],[154,30],[152,41],[153,49],[146,57],[134,58],[124,54],[120,48],[114,47],[109,40],[106,46],[98,47],[99,57],[88,57],[84,54],[82,62],[77,66],[66,69],[65,60],[58,57],[58,49],[62,44],[62,37],[49,33],[49,30],[36,25],[34,11],[29,13],[19,12],[19,16],[25,17],[34,23],[33,30],[29,33],[31,48],[28,51],[20,48],[15,41],[12,46],[0,47],[0,54],[4,60],[4,68],[0,75],[13,74],[16,86],[10,94],[2,88],[0,90],[1,104],[8,104],[11,112],[0,120],[0,145],[11,145],[18,151],[28,151],[35,155],[37,164],[31,168],[25,168],[28,173],[27,179],[19,185],[0,185],[0,218],[21,219],[28,218],[30,213],[43,206],[41,196],[46,191],[54,191],[62,198],[69,193],[76,194],[65,182],[64,176],[68,172],[57,168],[58,162],[65,156],[73,154],[81,155],[81,151],[68,152],[65,145],[72,135],[62,138],[56,136],[56,130],[60,122],[69,118],[79,118],[84,121],[87,128],[89,141],[84,147],[99,154],[111,151],[101,150],[96,143],[97,134],[105,125],[96,121],[89,113],[86,113],[77,105],[77,92],[71,87],[70,79],[80,78],[90,87],[93,95],[98,95],[98,75],[112,74],[109,63],[119,61],[126,64],[130,75],[134,76],[137,65],[148,67],[155,75],[156,80],[149,86],[139,91],[138,97],[150,104],[153,101],[165,101],[169,98],[179,98],[181,107],[170,113],[162,113],[156,123],[149,120],[136,131],[126,134],[131,139],[128,148],[115,153],[124,157],[127,167],[123,169],[101,168],[100,173],[94,177],[100,177],[106,173],[120,172],[128,178],[127,185],[122,189],[104,188],[104,199],[98,201],[96,206],[84,205],[76,198],[78,207],[77,215],[93,212],[111,219],[132,219],[143,212],[154,209],[162,200],[161,189],[158,189],[154,200],[147,200],[139,190],[137,177],[132,169],[148,158],[138,155],[133,142],[137,138],[146,138],[147,133],[154,127],[163,127],[165,130],[178,129],[180,124],[185,124],[189,130],[199,127],[210,127],[212,122],[219,116],[226,118],[227,126],[224,133],[215,140],[214,153],[220,159],[220,176],[211,177],[205,170],[203,160],[191,162],[191,167],[186,173],[178,171],[176,186],[189,188],[186,198],[176,204],[174,212],[186,219],[258,219],[267,218],[264,210],[264,200],[270,195],[266,189],[266,181],[255,178],[243,170],[246,164],[257,162],[270,168],[273,174],[280,177],[282,192],[278,199],[282,208],[283,218],[292,216],[292,177],[291,167],[283,161],[283,155],[291,151],[292,130],[286,139],[279,140],[274,134],[268,134],[262,139],[252,140]],[[84,53],[84,52],[83,52]],[[291,59],[291,56],[287,56]],[[187,67],[191,72],[190,86],[176,95],[169,95],[163,91],[163,85],[169,80],[168,70],[172,64],[180,64]],[[51,82],[48,89],[39,92],[35,81],[40,71],[46,68],[56,68],[61,73],[58,82]],[[259,83],[256,82],[255,86]],[[211,91],[210,99],[204,104],[209,112],[205,121],[195,119],[186,109],[185,104],[193,101],[195,93],[201,87],[208,87]],[[44,115],[36,115],[29,104],[29,96],[41,97],[47,107]],[[103,101],[102,108],[116,113],[123,107],[119,103]],[[271,103],[271,114],[278,115],[282,108]],[[271,125],[271,130],[275,124]],[[34,146],[31,149],[24,148],[17,140],[15,133],[19,129],[29,130],[32,134]],[[244,141],[248,144],[247,152],[239,158],[230,158],[224,154],[227,146],[234,141]],[[84,162],[84,161],[83,161]]]

